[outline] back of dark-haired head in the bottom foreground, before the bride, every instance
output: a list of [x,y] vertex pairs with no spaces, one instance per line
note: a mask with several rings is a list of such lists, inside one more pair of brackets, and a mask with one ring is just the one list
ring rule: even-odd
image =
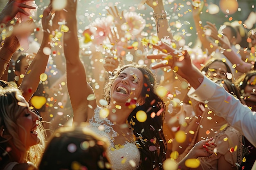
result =
[[111,170],[107,147],[108,141],[89,128],[61,127],[49,139],[38,169]]

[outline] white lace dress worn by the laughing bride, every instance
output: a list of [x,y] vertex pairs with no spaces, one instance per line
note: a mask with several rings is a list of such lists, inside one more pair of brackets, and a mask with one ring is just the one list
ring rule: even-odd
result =
[[[99,106],[94,110],[94,117],[89,121],[90,128],[97,133],[97,135],[106,137],[110,141],[110,148],[108,148],[108,158],[112,164],[112,170],[136,170],[139,161],[139,149],[134,143],[126,141],[126,144],[118,149],[113,149],[115,137],[117,132],[113,130],[114,124],[108,118],[99,117],[99,112],[102,108]],[[100,126],[100,128],[99,128]],[[104,130],[102,127],[104,127]],[[112,135],[111,135],[112,134]],[[112,148],[112,149],[111,149]]]

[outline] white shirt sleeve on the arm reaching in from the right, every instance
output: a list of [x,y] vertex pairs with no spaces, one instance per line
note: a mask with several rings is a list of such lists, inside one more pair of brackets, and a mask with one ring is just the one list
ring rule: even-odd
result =
[[207,104],[216,115],[226,119],[256,146],[256,112],[241,104],[238,99],[207,77],[204,77],[202,84],[196,90],[191,88],[188,95]]

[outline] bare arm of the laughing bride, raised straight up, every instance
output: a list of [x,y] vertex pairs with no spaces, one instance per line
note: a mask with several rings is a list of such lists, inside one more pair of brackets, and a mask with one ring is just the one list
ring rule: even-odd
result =
[[[67,89],[70,95],[73,122],[87,121],[97,107],[92,87],[87,83],[85,68],[79,58],[79,41],[76,22],[77,0],[67,0],[65,15],[69,31],[64,33],[64,54],[67,61]],[[89,99],[90,98],[90,99]]]

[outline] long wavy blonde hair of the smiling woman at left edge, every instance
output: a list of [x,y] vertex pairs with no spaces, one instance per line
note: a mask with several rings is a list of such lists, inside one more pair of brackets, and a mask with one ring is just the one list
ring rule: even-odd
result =
[[0,87],[0,127],[3,126],[4,132],[9,136],[8,139],[3,139],[1,136],[0,143],[8,144],[9,141],[12,141],[18,150],[27,152],[27,161],[38,165],[45,148],[45,130],[41,122],[38,123],[37,132],[40,143],[31,146],[29,149],[25,148],[18,137],[17,131],[19,128],[24,129],[17,124],[17,119],[20,115],[20,112],[17,111],[19,109],[19,95],[22,96],[22,93],[15,87]]

